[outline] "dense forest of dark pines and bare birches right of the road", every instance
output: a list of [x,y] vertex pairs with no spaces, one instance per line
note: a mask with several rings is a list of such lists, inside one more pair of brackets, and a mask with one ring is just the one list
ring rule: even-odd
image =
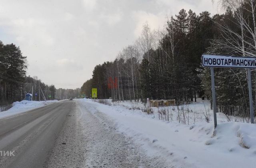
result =
[[[223,14],[182,9],[166,21],[164,30],[145,23],[134,44],[124,47],[113,61],[95,66],[81,92],[88,97],[98,89],[98,99],[175,99],[196,102],[211,96],[210,68],[201,64],[202,54],[256,56],[254,0],[219,0]],[[246,69],[215,68],[218,111],[249,115]],[[253,97],[256,73],[252,70]],[[255,108],[255,106],[254,106]]]

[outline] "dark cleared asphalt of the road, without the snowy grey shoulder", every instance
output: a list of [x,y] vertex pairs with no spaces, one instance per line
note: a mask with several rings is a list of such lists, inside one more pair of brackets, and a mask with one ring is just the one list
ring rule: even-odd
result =
[[0,151],[15,151],[0,156],[0,167],[42,167],[74,104],[57,102],[0,120]]

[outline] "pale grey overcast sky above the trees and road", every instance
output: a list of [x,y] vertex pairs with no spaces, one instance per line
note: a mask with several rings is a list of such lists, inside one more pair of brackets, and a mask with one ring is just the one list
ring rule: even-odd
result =
[[[97,64],[133,44],[147,21],[192,9],[217,13],[211,0],[0,0],[0,40],[20,46],[27,75],[56,88],[77,88]],[[72,84],[72,85],[67,85]]]

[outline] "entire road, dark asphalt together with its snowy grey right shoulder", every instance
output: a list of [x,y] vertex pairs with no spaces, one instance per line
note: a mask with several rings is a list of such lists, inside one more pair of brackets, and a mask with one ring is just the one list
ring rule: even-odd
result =
[[0,120],[0,168],[172,167],[148,156],[93,104],[65,100]]

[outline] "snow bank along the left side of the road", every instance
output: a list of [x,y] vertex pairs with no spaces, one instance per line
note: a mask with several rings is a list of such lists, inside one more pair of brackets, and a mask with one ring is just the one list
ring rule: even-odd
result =
[[2,118],[6,118],[9,116],[14,116],[23,112],[26,112],[28,110],[32,110],[34,108],[39,108],[42,106],[46,106],[48,104],[54,103],[54,102],[58,102],[58,100],[47,100],[45,101],[28,101],[28,100],[22,100],[20,102],[14,102],[12,105],[12,108],[0,112],[0,119]]

